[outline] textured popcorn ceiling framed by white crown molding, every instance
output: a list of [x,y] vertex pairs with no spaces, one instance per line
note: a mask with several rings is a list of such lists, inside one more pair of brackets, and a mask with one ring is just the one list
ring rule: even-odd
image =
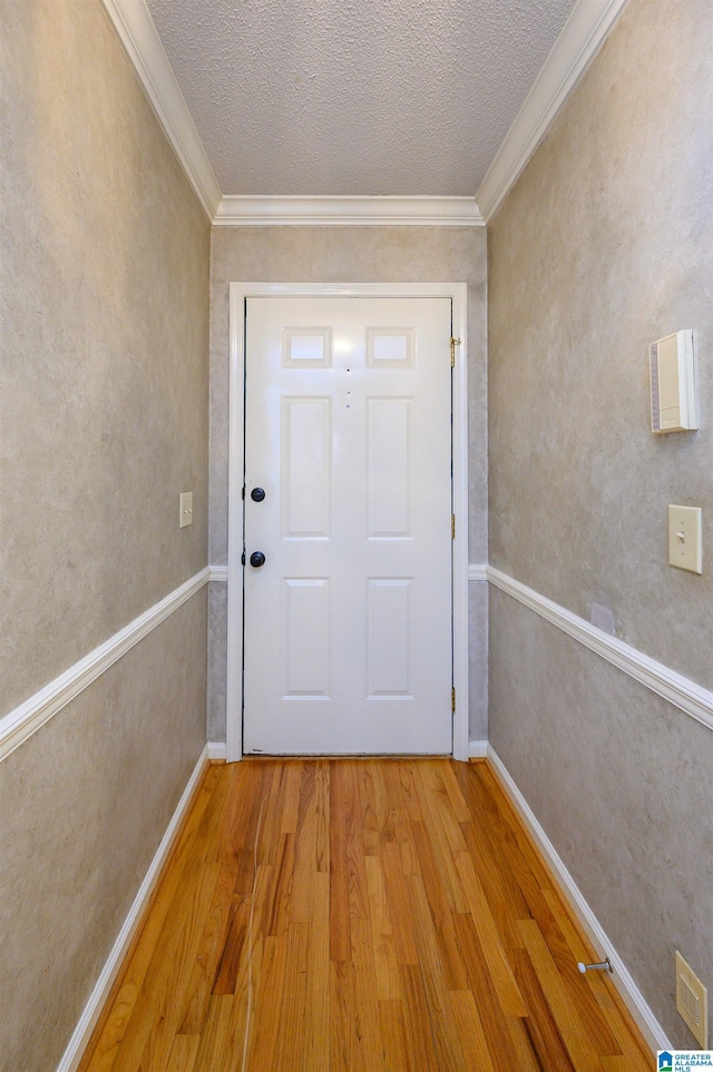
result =
[[574,0],[147,0],[224,195],[469,195]]

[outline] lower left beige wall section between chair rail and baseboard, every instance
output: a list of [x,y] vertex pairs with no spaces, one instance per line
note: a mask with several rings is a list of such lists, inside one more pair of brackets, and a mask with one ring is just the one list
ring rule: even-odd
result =
[[0,764],[0,1070],[52,1072],[205,745],[205,589]]

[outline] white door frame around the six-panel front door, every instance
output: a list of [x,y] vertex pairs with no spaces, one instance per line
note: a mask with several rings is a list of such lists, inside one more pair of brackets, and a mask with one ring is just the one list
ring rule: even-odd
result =
[[446,297],[453,303],[453,758],[468,759],[468,325],[465,283],[231,283],[228,405],[226,758],[243,757],[243,473],[245,299],[289,297]]

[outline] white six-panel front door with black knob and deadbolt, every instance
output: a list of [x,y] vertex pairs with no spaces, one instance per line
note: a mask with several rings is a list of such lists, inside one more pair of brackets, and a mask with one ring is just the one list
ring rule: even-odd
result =
[[452,750],[450,337],[449,298],[247,299],[247,754]]

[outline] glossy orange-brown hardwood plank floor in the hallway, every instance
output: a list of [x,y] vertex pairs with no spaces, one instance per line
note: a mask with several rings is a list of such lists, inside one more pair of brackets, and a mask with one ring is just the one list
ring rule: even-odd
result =
[[214,766],[80,1072],[644,1072],[594,953],[487,763]]

